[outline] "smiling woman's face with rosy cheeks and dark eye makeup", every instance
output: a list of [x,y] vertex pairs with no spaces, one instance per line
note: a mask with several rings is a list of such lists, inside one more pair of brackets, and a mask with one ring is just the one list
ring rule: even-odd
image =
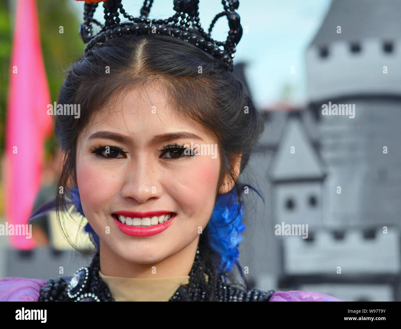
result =
[[[78,136],[82,208],[99,235],[101,250],[107,248],[127,262],[156,263],[197,243],[209,221],[218,192],[217,142],[205,129],[174,116],[154,86],[144,94],[130,91],[111,104]],[[209,145],[210,151],[193,156],[177,149],[163,151],[168,144],[181,147],[191,142]],[[126,227],[130,220],[122,224],[115,219],[118,212],[162,212],[173,217],[158,234],[133,236]],[[132,224],[142,225],[137,231],[155,222],[153,214],[132,217],[136,218]]]

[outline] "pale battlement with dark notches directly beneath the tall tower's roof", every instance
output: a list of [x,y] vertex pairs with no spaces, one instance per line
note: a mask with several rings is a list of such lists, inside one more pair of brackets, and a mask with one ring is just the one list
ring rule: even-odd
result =
[[400,63],[401,38],[312,45],[306,51],[308,97],[319,101],[352,95],[401,96]]

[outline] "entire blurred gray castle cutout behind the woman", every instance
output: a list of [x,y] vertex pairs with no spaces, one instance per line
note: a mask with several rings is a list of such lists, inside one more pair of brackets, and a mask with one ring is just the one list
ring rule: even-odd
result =
[[[265,204],[247,196],[240,246],[258,288],[401,300],[399,12],[396,0],[334,0],[306,51],[308,106],[265,112],[247,173]],[[275,235],[283,222],[308,224],[308,238]]]

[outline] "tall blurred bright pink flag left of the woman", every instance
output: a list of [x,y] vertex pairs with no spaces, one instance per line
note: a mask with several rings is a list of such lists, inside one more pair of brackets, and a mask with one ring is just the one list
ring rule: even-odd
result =
[[8,231],[11,246],[21,250],[35,246],[27,232],[18,235],[17,225],[28,224],[40,188],[44,141],[53,125],[50,103],[36,1],[18,0],[6,112],[5,221],[14,227],[14,235]]

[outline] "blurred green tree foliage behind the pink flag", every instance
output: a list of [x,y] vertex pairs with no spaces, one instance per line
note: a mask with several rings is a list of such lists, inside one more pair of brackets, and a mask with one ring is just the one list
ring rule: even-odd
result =
[[[52,102],[56,101],[57,94],[65,78],[63,71],[81,56],[85,46],[78,33],[79,25],[81,24],[79,15],[82,13],[74,9],[72,2],[73,0],[36,1],[43,58]],[[16,1],[0,1],[0,68],[2,73],[0,77],[0,157],[4,153],[5,115],[15,5]],[[47,157],[51,156],[56,145],[53,135],[46,142]]]

